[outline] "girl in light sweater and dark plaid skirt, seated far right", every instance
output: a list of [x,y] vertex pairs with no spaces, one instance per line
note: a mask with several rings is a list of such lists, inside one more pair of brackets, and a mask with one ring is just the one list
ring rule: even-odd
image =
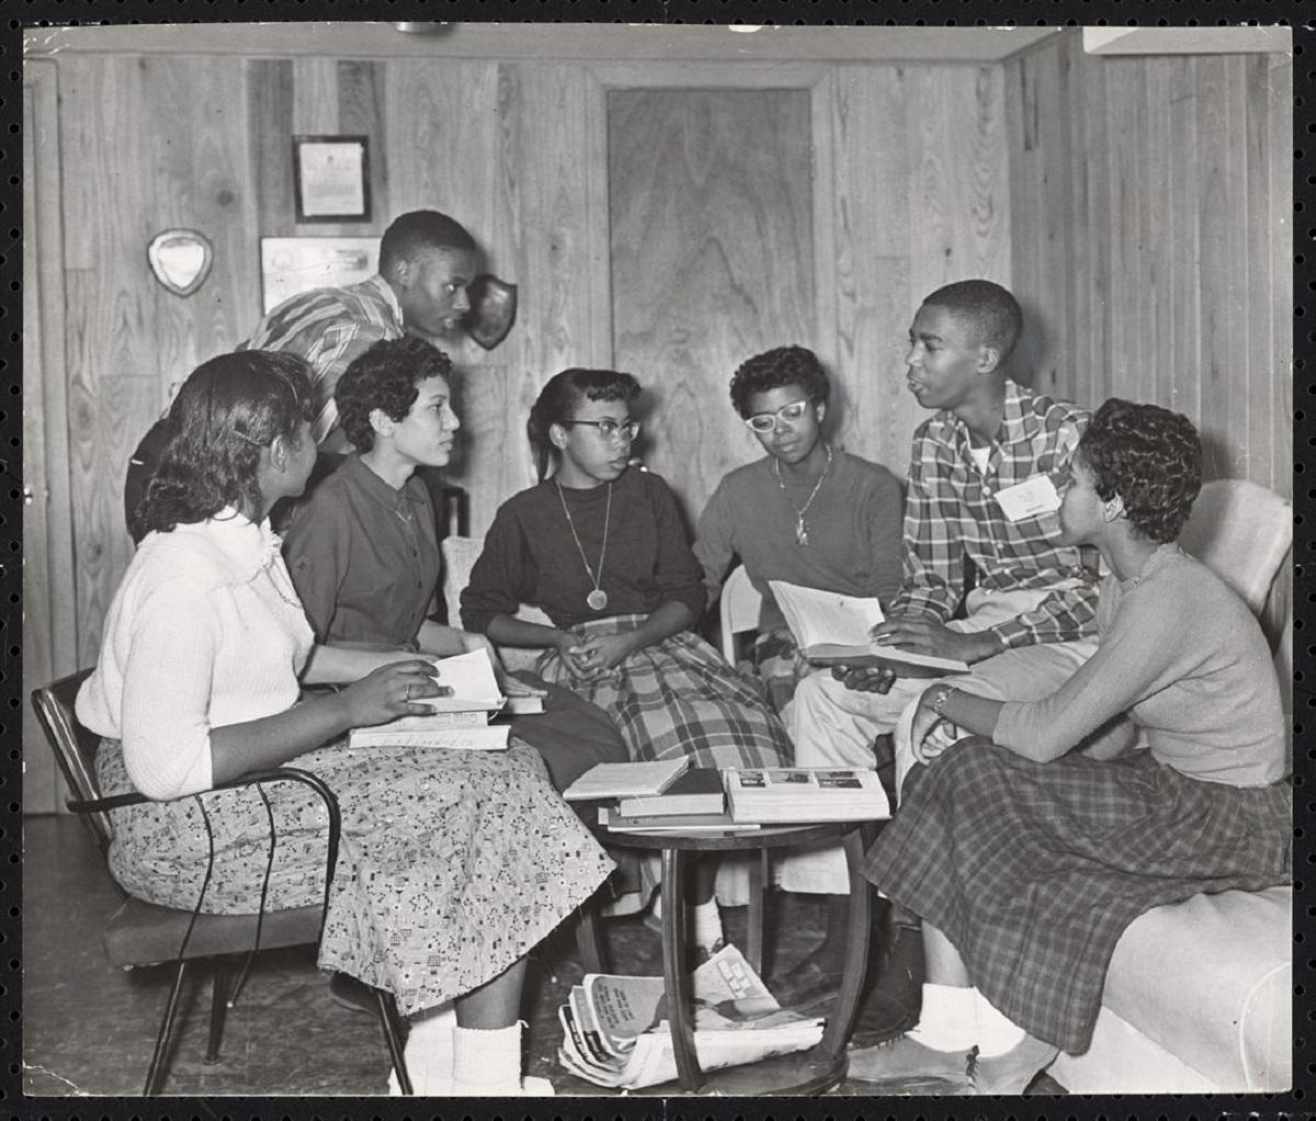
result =
[[1187,418],[1101,405],[1059,512],[1065,543],[1095,545],[1109,568],[1098,651],[1040,701],[942,683],[923,695],[926,766],[865,868],[923,917],[923,1013],[851,1051],[851,1078],[1019,1093],[1058,1049],[1087,1049],[1134,918],[1291,882],[1270,650],[1242,600],[1174,543],[1200,474]]

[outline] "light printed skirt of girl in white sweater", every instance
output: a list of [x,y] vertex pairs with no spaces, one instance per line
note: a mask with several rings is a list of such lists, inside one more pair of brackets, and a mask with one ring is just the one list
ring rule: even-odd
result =
[[[290,760],[333,789],[342,841],[320,966],[391,991],[413,1014],[492,980],[599,887],[612,862],[549,784],[530,747],[351,750]],[[117,741],[97,757],[101,789],[132,789]],[[296,783],[262,784],[275,822],[267,910],[324,899],[328,814]],[[191,909],[254,913],[270,825],[255,788],[113,810],[109,860],[130,895]]]

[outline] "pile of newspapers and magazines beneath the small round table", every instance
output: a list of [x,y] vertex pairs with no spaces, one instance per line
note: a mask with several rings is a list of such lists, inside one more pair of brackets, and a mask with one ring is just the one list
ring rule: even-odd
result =
[[[734,946],[695,970],[695,1053],[705,1070],[807,1051],[821,1017],[782,1008]],[[586,974],[558,1010],[558,1059],[596,1085],[638,1089],[676,1078],[662,978]]]

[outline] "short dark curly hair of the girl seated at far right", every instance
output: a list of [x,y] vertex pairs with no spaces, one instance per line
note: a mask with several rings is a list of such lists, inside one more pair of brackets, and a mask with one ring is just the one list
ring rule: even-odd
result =
[[1140,537],[1174,541],[1202,489],[1202,441],[1182,413],[1111,397],[1092,416],[1075,453],[1103,501],[1124,500]]

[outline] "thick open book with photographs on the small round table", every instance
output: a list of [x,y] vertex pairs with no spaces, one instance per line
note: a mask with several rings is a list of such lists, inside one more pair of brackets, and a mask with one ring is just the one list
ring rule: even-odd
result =
[[788,825],[891,816],[887,793],[871,768],[728,767],[722,775],[730,816],[737,822]]

